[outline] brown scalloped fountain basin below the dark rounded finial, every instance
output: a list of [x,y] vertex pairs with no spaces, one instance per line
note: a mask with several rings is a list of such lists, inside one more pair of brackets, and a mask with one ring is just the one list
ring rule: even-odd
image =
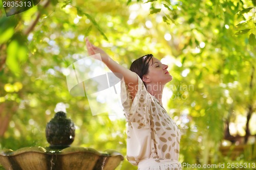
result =
[[123,160],[114,151],[98,152],[92,148],[68,147],[62,150],[27,147],[0,151],[0,164],[10,170],[112,170]]

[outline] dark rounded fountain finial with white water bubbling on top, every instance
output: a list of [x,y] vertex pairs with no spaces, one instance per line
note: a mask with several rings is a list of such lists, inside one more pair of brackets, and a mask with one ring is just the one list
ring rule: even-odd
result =
[[50,148],[64,149],[74,141],[75,125],[67,118],[65,104],[58,103],[54,111],[54,117],[46,126],[46,139]]

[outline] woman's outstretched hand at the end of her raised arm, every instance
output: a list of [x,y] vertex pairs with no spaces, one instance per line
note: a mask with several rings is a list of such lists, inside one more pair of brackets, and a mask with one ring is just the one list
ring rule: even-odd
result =
[[90,56],[98,54],[98,53],[100,54],[101,59],[94,57],[98,60],[102,60],[103,62],[105,62],[109,57],[108,54],[106,54],[101,48],[93,45],[87,37],[86,37],[86,47],[87,47],[88,54]]

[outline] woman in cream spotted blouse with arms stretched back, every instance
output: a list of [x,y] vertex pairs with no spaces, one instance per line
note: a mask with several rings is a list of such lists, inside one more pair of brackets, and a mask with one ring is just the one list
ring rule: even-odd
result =
[[100,54],[113,72],[123,75],[121,99],[127,127],[127,160],[138,170],[181,169],[180,130],[162,106],[163,87],[173,77],[152,54],[135,60],[130,70],[116,63],[86,38],[89,55]]

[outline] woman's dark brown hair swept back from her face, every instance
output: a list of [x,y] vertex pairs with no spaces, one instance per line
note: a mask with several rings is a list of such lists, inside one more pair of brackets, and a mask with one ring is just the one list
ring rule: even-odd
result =
[[152,54],[147,54],[145,56],[142,56],[136,59],[132,63],[130,70],[135,72],[137,75],[139,75],[139,77],[142,80],[143,75],[146,75],[148,72],[148,67],[149,67],[148,63],[150,62],[150,60],[152,60],[153,62],[152,57],[154,57]]

